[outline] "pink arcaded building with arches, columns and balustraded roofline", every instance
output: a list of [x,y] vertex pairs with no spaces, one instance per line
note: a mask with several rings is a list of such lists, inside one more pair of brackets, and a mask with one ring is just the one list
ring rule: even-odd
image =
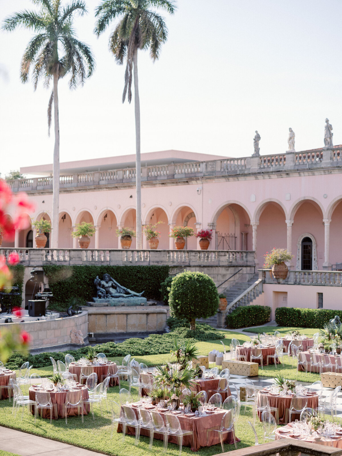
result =
[[[167,150],[142,154],[141,164],[142,223],[163,222],[159,249],[175,249],[170,229],[187,225],[213,230],[209,249],[254,250],[257,268],[273,247],[292,252],[291,269],[342,263],[339,146],[243,158]],[[10,181],[12,190],[36,202],[30,218],[49,219],[52,165],[21,172],[38,177]],[[96,227],[89,248],[120,248],[115,230],[135,228],[134,156],[61,164],[58,248],[78,248],[71,233],[83,221]],[[2,247],[35,247],[35,234],[17,232]],[[199,249],[197,238],[188,238],[185,249]]]

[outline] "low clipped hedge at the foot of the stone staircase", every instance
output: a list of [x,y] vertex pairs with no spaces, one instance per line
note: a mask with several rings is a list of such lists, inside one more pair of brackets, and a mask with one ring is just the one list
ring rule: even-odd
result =
[[241,306],[226,316],[227,328],[259,326],[269,321],[271,308],[268,306]]

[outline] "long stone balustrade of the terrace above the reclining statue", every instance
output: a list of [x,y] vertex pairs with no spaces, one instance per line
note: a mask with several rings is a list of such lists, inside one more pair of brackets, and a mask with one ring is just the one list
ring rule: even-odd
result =
[[251,266],[254,252],[244,250],[0,249],[6,258],[17,252],[24,266],[45,264]]

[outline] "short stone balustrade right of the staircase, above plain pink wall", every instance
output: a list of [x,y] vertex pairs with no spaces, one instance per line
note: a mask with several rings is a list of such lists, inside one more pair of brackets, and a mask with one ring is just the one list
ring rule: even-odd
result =
[[[258,269],[259,279],[266,284],[278,283],[272,275],[272,269]],[[287,278],[281,280],[284,285],[320,285],[342,286],[342,271],[295,271],[290,270]]]

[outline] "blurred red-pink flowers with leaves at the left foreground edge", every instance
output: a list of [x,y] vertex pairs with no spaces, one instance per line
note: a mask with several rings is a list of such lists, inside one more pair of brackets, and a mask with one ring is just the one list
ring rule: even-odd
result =
[[[4,240],[13,241],[16,229],[26,229],[30,226],[29,218],[25,211],[33,211],[34,205],[28,200],[26,193],[13,195],[6,182],[0,179],[0,231]],[[9,213],[14,214],[12,218]],[[19,263],[17,252],[10,252],[7,258],[0,255],[0,291],[5,287],[12,286],[13,276],[8,265],[14,266]],[[16,310],[18,312],[18,310]],[[21,316],[19,310],[19,315]],[[14,351],[27,353],[30,335],[21,332],[19,326],[0,331],[0,361],[6,363],[10,354]]]

